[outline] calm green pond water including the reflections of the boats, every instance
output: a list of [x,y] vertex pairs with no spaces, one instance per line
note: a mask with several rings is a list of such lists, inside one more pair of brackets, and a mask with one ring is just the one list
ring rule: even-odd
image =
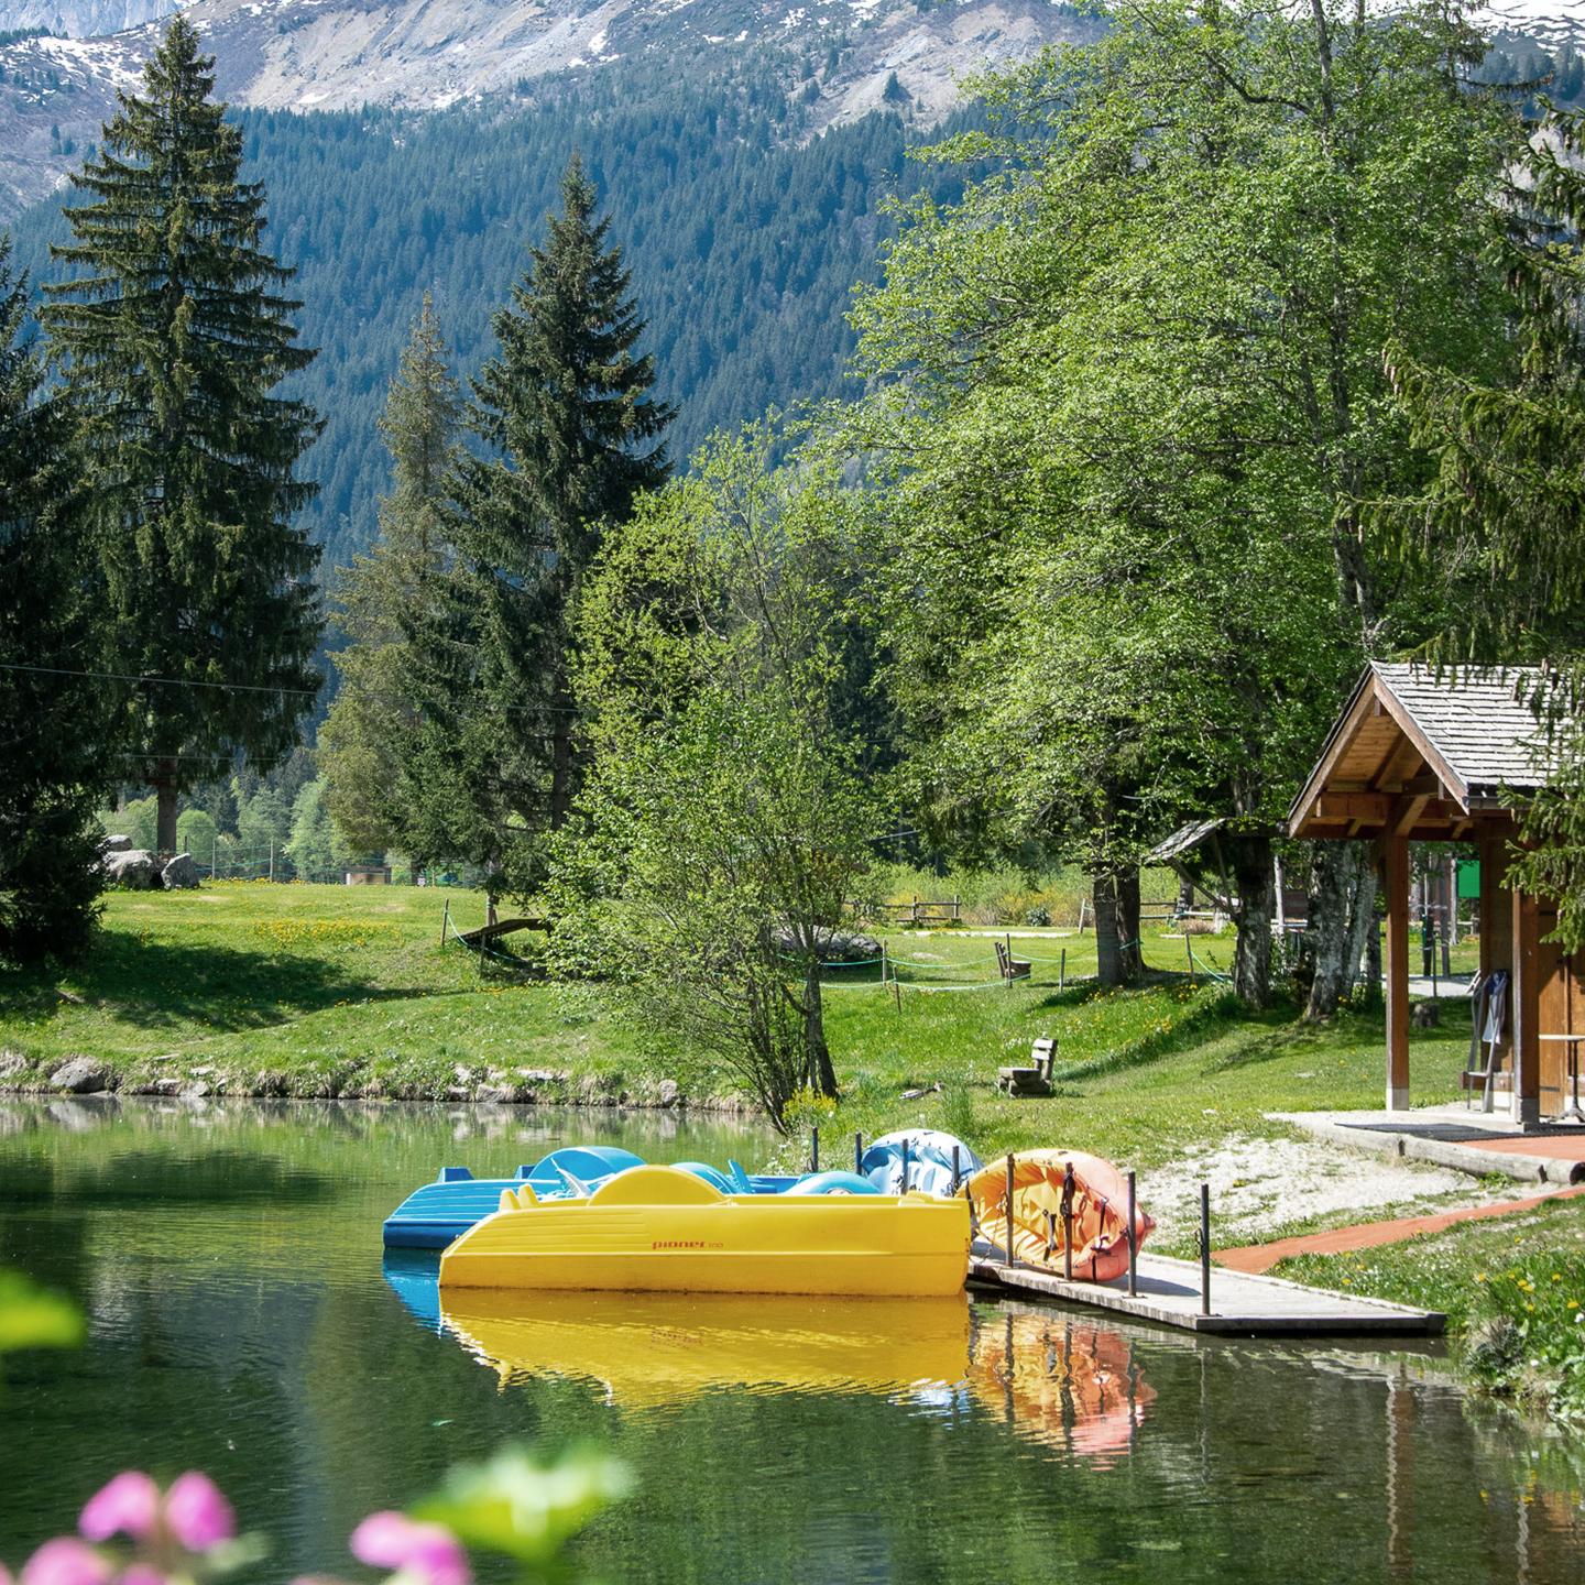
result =
[[358,1518],[526,1436],[632,1465],[585,1547],[613,1580],[1585,1579],[1585,1449],[1425,1358],[994,1303],[442,1325],[423,1263],[384,1268],[380,1219],[437,1165],[593,1140],[766,1154],[670,1116],[0,1100],[0,1263],[76,1293],[92,1331],[11,1365],[0,1558],[114,1469],[198,1466],[276,1537],[262,1579],[357,1577]]

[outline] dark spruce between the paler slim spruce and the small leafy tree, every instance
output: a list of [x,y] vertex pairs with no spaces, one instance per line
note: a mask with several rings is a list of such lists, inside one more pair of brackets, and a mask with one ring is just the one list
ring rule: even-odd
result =
[[644,320],[577,157],[561,203],[474,380],[469,425],[485,455],[458,464],[458,580],[428,645],[425,842],[504,870],[518,891],[537,880],[537,835],[566,819],[583,769],[579,588],[607,529],[669,472],[672,412],[650,396],[653,361],[634,350]]

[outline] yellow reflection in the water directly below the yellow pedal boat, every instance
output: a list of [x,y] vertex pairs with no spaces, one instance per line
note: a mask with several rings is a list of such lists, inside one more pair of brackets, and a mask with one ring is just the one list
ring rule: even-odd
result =
[[599,1382],[628,1407],[716,1387],[900,1392],[968,1373],[968,1300],[442,1289],[441,1319],[502,1384]]

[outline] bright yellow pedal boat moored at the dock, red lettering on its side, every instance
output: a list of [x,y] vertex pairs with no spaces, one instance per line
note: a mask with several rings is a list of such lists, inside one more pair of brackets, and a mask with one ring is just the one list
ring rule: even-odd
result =
[[441,1257],[449,1289],[940,1297],[968,1274],[968,1201],[724,1195],[675,1167],[632,1167],[588,1198],[501,1190]]

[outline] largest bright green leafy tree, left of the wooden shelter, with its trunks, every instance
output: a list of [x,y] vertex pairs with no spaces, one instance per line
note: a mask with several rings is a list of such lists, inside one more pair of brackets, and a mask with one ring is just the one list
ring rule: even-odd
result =
[[[937,826],[1037,835],[1102,892],[1152,837],[1222,816],[1258,1005],[1297,778],[1362,659],[1436,618],[1363,533],[1363,502],[1425,466],[1384,352],[1507,360],[1487,217],[1523,136],[1469,82],[1482,41],[1457,10],[1111,19],[992,79],[991,130],[940,151],[999,170],[910,209],[859,304],[850,444],[883,485],[896,689]],[[1327,888],[1322,911],[1368,918],[1368,869]],[[1322,938],[1339,965],[1316,1013],[1360,937]]]

